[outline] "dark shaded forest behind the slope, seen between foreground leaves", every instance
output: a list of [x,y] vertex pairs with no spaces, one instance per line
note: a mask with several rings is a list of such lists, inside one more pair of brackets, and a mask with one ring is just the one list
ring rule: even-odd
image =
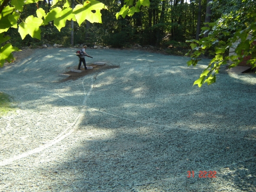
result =
[[[196,35],[199,35],[198,31],[204,26],[206,15],[210,16],[208,22],[219,19],[222,6],[219,2],[213,3],[210,0],[150,0],[149,7],[141,6],[140,12],[135,12],[132,17],[126,15],[125,18],[119,16],[117,19],[116,13],[121,10],[124,0],[99,1],[108,7],[108,10],[101,10],[102,24],[92,24],[86,20],[79,26],[77,22],[74,22],[74,45],[124,48],[139,44],[165,48],[170,54],[184,55],[189,48],[189,44],[185,41],[195,39]],[[84,0],[74,1],[75,5],[78,2],[83,3]],[[63,7],[64,3],[65,1],[59,1],[55,6]],[[52,0],[43,0],[38,1],[38,4],[24,5],[21,18],[36,15],[38,8],[43,8],[47,13],[55,7],[51,7],[51,4]],[[208,14],[207,5],[211,11]],[[22,40],[17,28],[10,28],[6,35],[11,37],[9,42],[18,48],[35,48],[43,44],[55,43],[64,47],[71,46],[71,21],[66,21],[61,32],[53,25],[53,22],[40,26],[40,29],[41,40],[31,36],[26,36]]]

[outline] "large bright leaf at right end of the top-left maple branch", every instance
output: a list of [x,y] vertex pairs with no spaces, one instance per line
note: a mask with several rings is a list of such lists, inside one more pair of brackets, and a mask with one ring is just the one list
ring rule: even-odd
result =
[[[79,26],[83,21],[88,20],[91,23],[102,23],[100,10],[108,9],[103,3],[98,0],[85,0],[84,5],[76,5],[73,9],[73,14]],[[94,12],[92,12],[94,11]]]

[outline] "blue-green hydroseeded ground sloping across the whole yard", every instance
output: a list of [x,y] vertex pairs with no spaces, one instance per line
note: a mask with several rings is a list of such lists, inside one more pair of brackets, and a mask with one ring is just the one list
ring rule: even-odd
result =
[[0,69],[19,108],[0,119],[0,191],[256,191],[254,74],[198,88],[208,60],[88,49],[87,64],[120,67],[63,81],[75,51]]

